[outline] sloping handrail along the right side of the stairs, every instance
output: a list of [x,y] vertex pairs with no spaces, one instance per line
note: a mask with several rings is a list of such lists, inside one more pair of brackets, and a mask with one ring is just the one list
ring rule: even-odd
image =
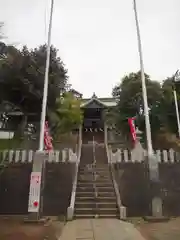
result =
[[114,190],[115,190],[115,194],[116,194],[116,199],[117,199],[117,205],[118,205],[118,210],[119,210],[119,216],[121,218],[121,207],[122,207],[122,202],[121,202],[121,196],[120,196],[120,192],[119,192],[119,187],[115,178],[115,174],[114,174],[114,166],[111,162],[111,154],[108,148],[108,144],[107,144],[107,125],[105,124],[104,126],[104,143],[105,143],[105,147],[106,147],[106,153],[107,153],[107,158],[108,158],[108,163],[110,163],[110,167],[111,167],[111,174],[112,174],[112,180],[113,180],[113,185],[114,185]]

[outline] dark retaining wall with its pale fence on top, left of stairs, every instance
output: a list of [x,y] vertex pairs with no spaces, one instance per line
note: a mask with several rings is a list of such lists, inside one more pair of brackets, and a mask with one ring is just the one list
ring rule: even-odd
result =
[[[0,214],[28,214],[33,151],[0,152]],[[41,191],[41,215],[66,214],[77,155],[71,149],[48,153]]]

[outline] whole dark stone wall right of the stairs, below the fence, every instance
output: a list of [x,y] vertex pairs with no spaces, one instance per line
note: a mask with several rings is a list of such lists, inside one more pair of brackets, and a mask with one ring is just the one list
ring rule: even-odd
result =
[[128,216],[151,215],[153,196],[161,196],[163,214],[180,216],[180,162],[159,163],[158,184],[149,181],[148,166],[144,163],[115,163],[116,179],[122,204]]

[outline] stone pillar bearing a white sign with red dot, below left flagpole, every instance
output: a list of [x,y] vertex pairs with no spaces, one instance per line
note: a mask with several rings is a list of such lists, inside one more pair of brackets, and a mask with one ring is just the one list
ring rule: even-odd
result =
[[43,197],[41,193],[44,182],[45,161],[48,158],[45,151],[37,151],[34,154],[33,167],[30,178],[28,220],[38,221],[40,219]]

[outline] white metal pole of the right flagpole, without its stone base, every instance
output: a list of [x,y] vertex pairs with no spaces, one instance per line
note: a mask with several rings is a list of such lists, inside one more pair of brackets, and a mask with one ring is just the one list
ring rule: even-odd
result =
[[147,102],[147,90],[146,90],[146,82],[145,82],[145,74],[144,74],[144,63],[143,63],[143,56],[142,56],[142,44],[141,44],[141,37],[140,37],[136,0],[133,0],[133,1],[134,1],[134,13],[135,13],[135,21],[136,21],[136,29],[137,29],[140,67],[141,67],[141,81],[142,81],[142,93],[143,93],[143,101],[144,101],[147,148],[148,148],[148,156],[151,157],[153,155],[153,148],[152,148],[152,140],[151,140],[151,126],[149,121],[149,109],[148,109],[148,102]]

